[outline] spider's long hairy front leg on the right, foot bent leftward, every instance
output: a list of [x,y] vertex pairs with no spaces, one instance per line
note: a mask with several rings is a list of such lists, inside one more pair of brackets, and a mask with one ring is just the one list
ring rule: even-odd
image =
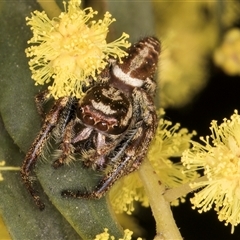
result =
[[[135,89],[133,128],[126,133],[125,138],[119,143],[118,151],[113,150],[115,156],[111,171],[100,180],[91,192],[71,191],[62,192],[64,197],[99,199],[121,177],[139,168],[144,160],[149,144],[157,128],[157,116],[151,97],[141,89]],[[110,159],[111,160],[111,159]]]

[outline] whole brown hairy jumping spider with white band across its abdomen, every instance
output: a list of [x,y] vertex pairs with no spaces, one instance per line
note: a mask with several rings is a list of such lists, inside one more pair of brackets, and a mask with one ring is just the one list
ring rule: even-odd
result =
[[[110,166],[93,191],[65,190],[64,197],[101,198],[119,178],[139,168],[157,127],[152,98],[159,54],[160,42],[143,38],[128,49],[123,62],[109,61],[82,99],[55,101],[21,168],[22,180],[41,210],[45,205],[34,190],[31,174],[50,136],[58,146],[54,168],[71,161],[73,155],[96,170]],[[46,96],[44,92],[36,102]]]

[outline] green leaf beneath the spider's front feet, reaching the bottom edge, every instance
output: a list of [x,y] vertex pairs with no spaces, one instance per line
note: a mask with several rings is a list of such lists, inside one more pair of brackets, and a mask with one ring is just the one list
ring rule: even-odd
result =
[[83,169],[79,161],[57,170],[53,169],[51,164],[51,162],[39,164],[38,179],[52,203],[78,234],[84,239],[94,239],[95,235],[103,232],[104,228],[108,228],[115,237],[122,237],[120,226],[111,213],[106,197],[100,200],[61,197],[62,190],[93,188],[99,181],[96,172]]

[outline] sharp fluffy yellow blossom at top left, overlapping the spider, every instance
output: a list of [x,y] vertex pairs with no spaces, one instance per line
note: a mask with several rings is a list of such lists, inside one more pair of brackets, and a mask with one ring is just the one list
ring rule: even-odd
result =
[[30,57],[32,78],[37,84],[50,83],[48,87],[54,98],[82,96],[82,84],[96,78],[107,65],[109,57],[119,58],[127,53],[128,35],[123,33],[117,40],[107,43],[109,25],[115,21],[106,12],[103,20],[91,20],[97,11],[80,9],[80,0],[70,0],[65,12],[50,20],[45,12],[34,11],[26,18],[31,26],[33,44],[26,49]]

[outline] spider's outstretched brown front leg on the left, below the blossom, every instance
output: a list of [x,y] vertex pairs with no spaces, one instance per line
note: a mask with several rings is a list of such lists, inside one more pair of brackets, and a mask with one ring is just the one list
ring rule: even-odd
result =
[[34,140],[30,150],[28,151],[22,168],[21,168],[21,177],[22,180],[28,189],[29,193],[32,195],[36,205],[39,207],[40,210],[43,210],[45,205],[41,202],[40,197],[36,193],[36,191],[33,189],[32,181],[31,181],[31,173],[32,169],[40,156],[42,149],[46,143],[46,141],[49,139],[50,133],[53,130],[53,128],[56,126],[57,121],[60,117],[60,114],[65,107],[67,103],[68,98],[60,98],[56,101],[48,115],[46,116],[45,123],[37,136],[37,138]]

